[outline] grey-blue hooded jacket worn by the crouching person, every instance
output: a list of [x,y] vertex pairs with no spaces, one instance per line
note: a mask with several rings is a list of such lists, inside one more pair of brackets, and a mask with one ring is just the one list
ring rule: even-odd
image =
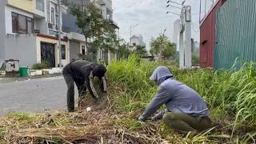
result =
[[156,115],[161,119],[167,111],[174,113],[189,114],[194,117],[205,117],[209,115],[206,102],[200,95],[189,86],[173,79],[173,75],[165,66],[158,66],[151,75],[150,80],[158,82],[158,93],[154,96],[141,118],[149,118],[163,104],[167,110]]

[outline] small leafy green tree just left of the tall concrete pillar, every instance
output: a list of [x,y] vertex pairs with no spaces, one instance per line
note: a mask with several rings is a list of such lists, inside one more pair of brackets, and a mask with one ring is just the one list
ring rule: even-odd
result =
[[164,34],[160,34],[158,38],[152,38],[150,42],[150,54],[160,56],[160,59],[170,58],[174,56],[175,48]]

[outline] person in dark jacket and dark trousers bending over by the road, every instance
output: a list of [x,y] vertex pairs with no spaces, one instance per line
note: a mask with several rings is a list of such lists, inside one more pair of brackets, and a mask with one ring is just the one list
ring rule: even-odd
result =
[[106,93],[105,74],[106,67],[94,62],[78,60],[66,65],[63,68],[63,76],[67,86],[67,110],[74,111],[74,82],[78,87],[79,98],[87,87],[91,96],[97,100],[99,97],[94,89],[93,78],[96,76],[100,79],[102,92]]

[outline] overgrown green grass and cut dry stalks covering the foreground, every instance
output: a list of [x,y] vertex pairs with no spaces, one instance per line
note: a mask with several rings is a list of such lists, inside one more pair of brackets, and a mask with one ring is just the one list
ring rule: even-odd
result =
[[[157,92],[158,86],[149,78],[159,65],[167,66],[174,78],[205,98],[218,126],[182,138],[162,122],[137,121]],[[102,97],[107,101],[96,104],[98,108],[86,97],[77,113],[7,114],[0,118],[0,143],[255,143],[254,62],[245,63],[241,70],[179,70],[130,56],[112,62],[107,77],[108,97]],[[91,112],[84,110],[87,106],[94,106]]]

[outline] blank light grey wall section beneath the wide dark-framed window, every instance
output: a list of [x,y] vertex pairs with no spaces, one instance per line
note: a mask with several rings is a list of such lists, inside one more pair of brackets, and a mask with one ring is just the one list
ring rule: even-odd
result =
[[32,66],[36,59],[34,34],[6,36],[6,59],[19,60],[20,66]]

